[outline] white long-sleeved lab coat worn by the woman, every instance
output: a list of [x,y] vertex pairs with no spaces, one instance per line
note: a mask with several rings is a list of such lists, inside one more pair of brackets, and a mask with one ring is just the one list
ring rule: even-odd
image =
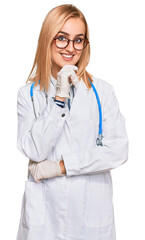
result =
[[36,162],[64,159],[67,174],[25,182],[17,240],[115,240],[110,170],[128,158],[125,120],[112,85],[93,77],[102,106],[103,146],[96,145],[98,104],[79,82],[70,111],[57,106],[50,85],[48,105],[40,86],[18,90],[18,149]]

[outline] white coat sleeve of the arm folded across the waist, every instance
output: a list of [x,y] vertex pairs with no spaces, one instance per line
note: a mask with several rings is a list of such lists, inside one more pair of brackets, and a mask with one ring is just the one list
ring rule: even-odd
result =
[[110,88],[110,94],[102,107],[103,146],[94,143],[89,149],[63,153],[68,176],[105,172],[120,166],[128,159],[125,119],[119,110],[114,89],[112,86]]

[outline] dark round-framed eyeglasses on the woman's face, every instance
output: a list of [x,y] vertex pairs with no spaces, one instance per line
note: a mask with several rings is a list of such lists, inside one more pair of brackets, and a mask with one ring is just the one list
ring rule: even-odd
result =
[[69,42],[73,41],[73,47],[78,51],[83,50],[89,43],[89,41],[86,37],[76,37],[73,40],[71,40],[71,39],[68,39],[67,37],[61,35],[61,36],[55,37],[53,39],[55,40],[56,46],[61,49],[66,48],[69,45]]

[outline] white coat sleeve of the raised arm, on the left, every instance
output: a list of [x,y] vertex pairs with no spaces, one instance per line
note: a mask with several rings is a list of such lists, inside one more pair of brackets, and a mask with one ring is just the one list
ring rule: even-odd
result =
[[[49,104],[48,104],[49,105]],[[21,88],[17,94],[17,148],[28,158],[40,162],[55,146],[65,122],[65,109],[53,103],[37,119]]]

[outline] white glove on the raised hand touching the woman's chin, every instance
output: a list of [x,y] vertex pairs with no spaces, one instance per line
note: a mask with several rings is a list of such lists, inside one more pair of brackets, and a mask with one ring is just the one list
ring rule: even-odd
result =
[[[70,98],[70,86],[72,84],[75,85],[78,82],[78,77],[75,73],[77,70],[77,66],[64,65],[62,69],[57,73],[56,96]],[[69,82],[69,78],[71,78],[72,82]]]

